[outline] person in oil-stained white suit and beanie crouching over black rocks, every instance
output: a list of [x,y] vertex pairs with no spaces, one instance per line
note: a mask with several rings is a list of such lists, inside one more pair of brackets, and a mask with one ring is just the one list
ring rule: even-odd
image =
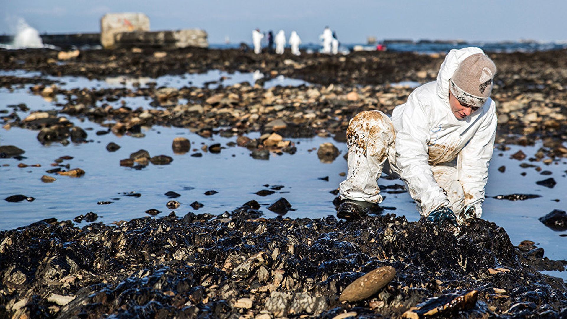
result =
[[453,49],[437,81],[414,90],[391,119],[373,110],[350,120],[337,216],[364,216],[382,202],[376,179],[386,173],[404,181],[418,211],[434,223],[480,218],[496,136],[494,74],[496,65],[480,48]]

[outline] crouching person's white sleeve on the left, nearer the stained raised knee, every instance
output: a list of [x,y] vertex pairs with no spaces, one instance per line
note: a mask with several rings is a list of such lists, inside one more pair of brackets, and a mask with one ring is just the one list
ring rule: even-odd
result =
[[410,94],[396,132],[396,165],[409,194],[421,206],[421,215],[449,204],[429,166],[430,120],[427,106]]

